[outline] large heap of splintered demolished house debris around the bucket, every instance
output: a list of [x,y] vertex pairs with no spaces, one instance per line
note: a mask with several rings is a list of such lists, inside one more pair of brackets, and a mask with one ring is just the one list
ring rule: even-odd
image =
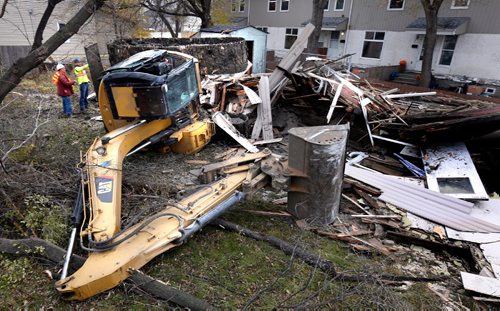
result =
[[[494,282],[500,282],[500,244],[495,243],[500,241],[500,224],[493,216],[500,212],[491,214],[493,208],[482,208],[485,202],[498,205],[499,200],[489,198],[463,143],[497,130],[500,106],[425,90],[400,93],[381,83],[360,79],[345,69],[339,61],[343,58],[304,58],[304,42],[312,31],[307,27],[306,30],[272,74],[208,75],[203,82],[204,107],[213,112],[214,122],[247,151],[256,152],[257,146],[265,144],[279,147],[289,143],[289,165],[273,154],[265,161],[281,163],[278,169],[261,165],[262,170],[254,171],[253,177],[261,174],[258,180],[272,183],[276,191],[282,190],[278,185],[288,184],[288,198],[274,200],[275,204],[288,202],[288,211],[303,219],[297,222],[302,228],[344,241],[356,251],[390,256],[400,251],[389,244],[391,239],[438,252],[446,249],[468,259],[482,251],[486,260],[469,262],[468,271],[473,273],[462,273],[464,287],[500,297],[499,291],[492,289],[498,289]],[[351,124],[357,132],[357,137],[351,135],[347,148],[338,147],[338,154],[331,155],[338,160],[335,167],[342,179],[346,149],[350,151],[342,199],[356,211],[341,207],[347,217],[335,212],[340,188],[323,184],[321,176],[333,172],[318,170],[321,165],[316,170],[307,169],[312,161],[327,161],[326,158],[301,158],[301,167],[307,172],[294,167],[297,156],[305,150],[314,152],[313,147],[298,146],[294,141],[293,137],[300,136],[297,133],[301,131],[291,129],[296,126],[294,122],[288,119],[284,125],[278,125],[283,110],[295,108],[305,112],[299,117],[309,118],[307,125],[318,125],[304,128],[307,135],[320,135],[321,129],[332,124],[343,124],[346,133]],[[313,120],[307,111],[322,111],[322,118]],[[333,139],[332,143],[341,145],[340,140]],[[363,141],[368,144],[362,145]],[[357,152],[367,150],[372,152]],[[380,150],[385,153],[373,152]],[[266,174],[271,177],[265,179]],[[308,184],[314,185],[314,191]],[[318,199],[333,193],[338,196],[323,201],[320,213],[324,219],[320,222],[325,225],[335,221],[329,228],[336,233],[315,227],[318,214],[307,205],[311,196]],[[301,206],[300,211],[297,206]],[[481,270],[490,273],[474,274]],[[481,283],[484,280],[492,282],[486,289]]]

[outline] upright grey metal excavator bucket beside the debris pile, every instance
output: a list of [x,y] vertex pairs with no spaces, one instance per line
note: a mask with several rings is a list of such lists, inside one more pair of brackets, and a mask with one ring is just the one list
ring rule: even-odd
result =
[[349,124],[289,131],[288,212],[324,225],[339,211]]

